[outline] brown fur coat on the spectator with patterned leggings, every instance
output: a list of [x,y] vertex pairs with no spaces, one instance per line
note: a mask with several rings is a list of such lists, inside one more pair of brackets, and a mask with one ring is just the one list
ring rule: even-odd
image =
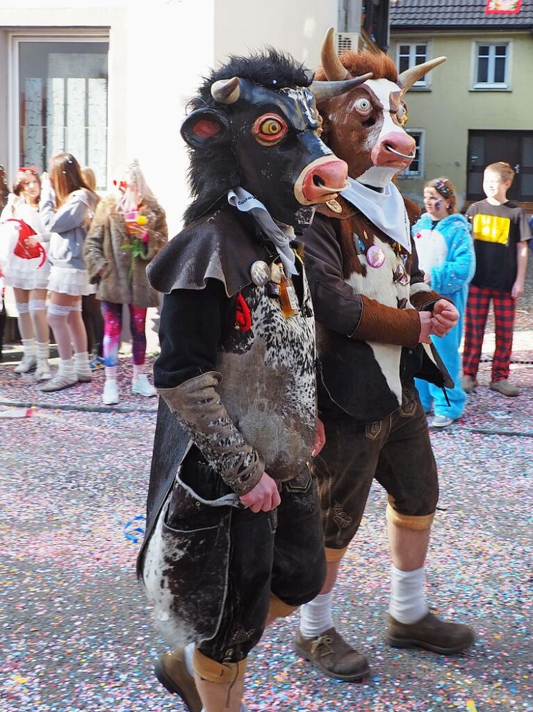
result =
[[[162,207],[151,199],[144,201],[140,213],[149,219],[147,251],[142,257],[133,257],[131,249],[125,247],[132,239],[115,198],[110,196],[100,201],[84,248],[90,281],[97,284],[97,299],[139,308],[159,304],[158,293],[147,279],[146,267],[167,244],[167,219]],[[100,275],[102,268],[105,268],[103,276]]]

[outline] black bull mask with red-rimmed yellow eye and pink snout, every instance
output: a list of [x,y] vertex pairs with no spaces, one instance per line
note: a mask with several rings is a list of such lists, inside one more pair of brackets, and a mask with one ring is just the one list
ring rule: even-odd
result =
[[354,88],[371,75],[346,82],[316,82],[310,89],[268,88],[233,77],[211,86],[221,108],[197,109],[181,126],[194,150],[231,145],[241,187],[263,202],[280,223],[305,227],[314,206],[334,198],[347,180],[347,164],[320,140],[317,101]]

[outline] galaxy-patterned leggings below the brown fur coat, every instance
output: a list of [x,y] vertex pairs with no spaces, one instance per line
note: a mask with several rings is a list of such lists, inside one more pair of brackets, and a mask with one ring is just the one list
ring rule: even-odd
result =
[[[139,309],[132,304],[130,308],[130,330],[132,332],[133,362],[137,366],[144,364],[146,354],[146,309]],[[122,332],[122,304],[102,302],[104,315],[104,363],[106,366],[116,366]]]

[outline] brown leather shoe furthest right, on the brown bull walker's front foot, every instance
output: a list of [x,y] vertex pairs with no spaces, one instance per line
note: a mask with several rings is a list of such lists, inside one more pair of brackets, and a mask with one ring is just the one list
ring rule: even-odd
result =
[[475,641],[473,629],[463,623],[447,623],[428,612],[418,623],[399,623],[389,616],[387,643],[393,648],[425,648],[434,653],[458,653]]

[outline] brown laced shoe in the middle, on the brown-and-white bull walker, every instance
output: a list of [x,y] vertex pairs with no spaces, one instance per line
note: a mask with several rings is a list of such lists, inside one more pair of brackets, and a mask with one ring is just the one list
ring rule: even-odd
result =
[[369,671],[366,657],[349,646],[334,628],[328,628],[316,638],[304,638],[298,631],[295,651],[337,680],[358,682]]

